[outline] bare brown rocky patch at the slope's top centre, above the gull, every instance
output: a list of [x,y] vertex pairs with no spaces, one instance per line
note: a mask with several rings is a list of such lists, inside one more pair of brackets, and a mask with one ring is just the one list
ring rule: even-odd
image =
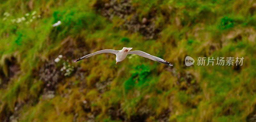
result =
[[[144,17],[139,20],[139,16],[135,13],[135,8],[130,0],[111,0],[109,3],[97,1],[93,5],[102,16],[112,20],[114,16],[124,19],[124,24],[120,25],[121,29],[127,29],[130,32],[140,32],[146,39],[157,37],[160,28],[156,27],[152,18]],[[132,16],[129,19],[129,16]]]

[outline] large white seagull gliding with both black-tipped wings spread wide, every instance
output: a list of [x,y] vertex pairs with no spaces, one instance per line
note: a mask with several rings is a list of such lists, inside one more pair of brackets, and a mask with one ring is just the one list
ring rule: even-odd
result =
[[130,51],[130,50],[132,50],[132,47],[130,47],[130,48],[123,47],[123,49],[120,50],[120,51],[111,50],[111,49],[101,50],[101,51],[97,51],[97,52],[88,54],[86,56],[83,56],[83,57],[77,59],[74,62],[80,61],[84,58],[88,58],[88,57],[91,57],[91,56],[94,56],[94,55],[97,55],[97,54],[100,54],[100,53],[113,53],[113,54],[116,54],[116,64],[117,64],[117,62],[123,61],[124,58],[126,58],[126,56],[128,54],[136,54],[136,55],[139,55],[139,56],[142,56],[142,57],[145,57],[145,58],[148,58],[148,59],[151,59],[151,60],[154,60],[154,61],[172,66],[172,64],[170,64],[169,62],[165,61],[162,58],[152,56],[152,55],[150,55],[146,52],[143,52],[143,51]]

